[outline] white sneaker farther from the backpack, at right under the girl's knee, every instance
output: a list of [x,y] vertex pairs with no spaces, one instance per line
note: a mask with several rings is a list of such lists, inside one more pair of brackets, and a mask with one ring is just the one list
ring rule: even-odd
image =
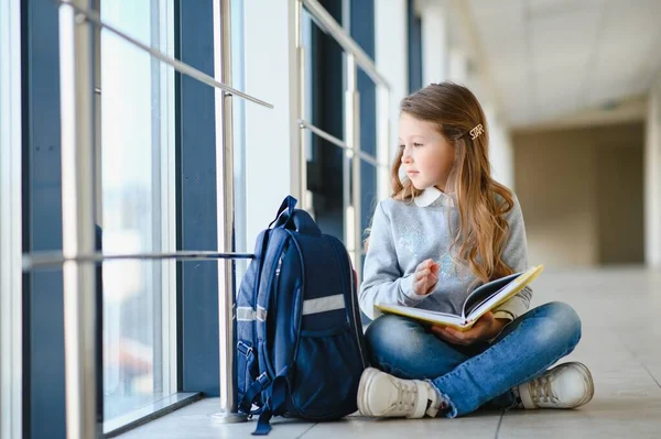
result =
[[520,408],[575,408],[587,404],[595,385],[587,367],[581,363],[564,363],[518,388]]

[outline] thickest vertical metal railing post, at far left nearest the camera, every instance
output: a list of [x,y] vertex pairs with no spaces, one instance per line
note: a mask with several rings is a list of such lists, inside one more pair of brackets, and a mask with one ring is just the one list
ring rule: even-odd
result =
[[[88,0],[75,0],[85,8]],[[72,3],[59,8],[59,123],[62,127],[62,253],[91,253],[94,230],[93,26]],[[98,438],[96,271],[63,266],[64,384],[66,438]]]

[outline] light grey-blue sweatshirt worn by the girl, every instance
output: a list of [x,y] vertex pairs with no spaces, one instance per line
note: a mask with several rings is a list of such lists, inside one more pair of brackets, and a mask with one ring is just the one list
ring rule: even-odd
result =
[[[468,266],[457,264],[449,253],[452,234],[456,231],[459,213],[452,197],[431,187],[413,201],[392,198],[379,202],[375,210],[369,248],[360,285],[360,309],[369,318],[379,316],[376,304],[399,304],[442,312],[462,314],[462,304],[478,286]],[[519,200],[506,217],[510,237],[502,260],[514,273],[528,268],[525,229]],[[456,255],[458,249],[452,249]],[[438,283],[424,296],[413,292],[415,267],[426,259],[440,265]],[[497,318],[516,319],[530,307],[532,290],[522,289],[494,312]]]

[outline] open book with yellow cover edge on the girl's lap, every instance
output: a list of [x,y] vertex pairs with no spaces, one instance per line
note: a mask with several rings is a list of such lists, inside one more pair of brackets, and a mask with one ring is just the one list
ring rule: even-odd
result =
[[543,265],[537,265],[525,272],[510,274],[509,276],[480,285],[466,297],[466,300],[464,300],[460,316],[401,305],[382,304],[376,305],[376,307],[386,314],[397,314],[422,320],[427,323],[448,326],[458,329],[459,331],[466,331],[470,329],[475,321],[484,314],[509,300],[528,284],[534,281],[542,270],[544,270]]

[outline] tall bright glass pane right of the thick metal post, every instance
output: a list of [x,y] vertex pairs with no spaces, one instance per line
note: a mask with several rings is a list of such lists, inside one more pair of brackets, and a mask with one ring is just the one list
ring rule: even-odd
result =
[[[101,19],[172,53],[171,0],[105,0]],[[105,253],[174,250],[173,73],[101,33],[101,209]],[[104,264],[105,419],[175,392],[169,316],[170,262]]]

